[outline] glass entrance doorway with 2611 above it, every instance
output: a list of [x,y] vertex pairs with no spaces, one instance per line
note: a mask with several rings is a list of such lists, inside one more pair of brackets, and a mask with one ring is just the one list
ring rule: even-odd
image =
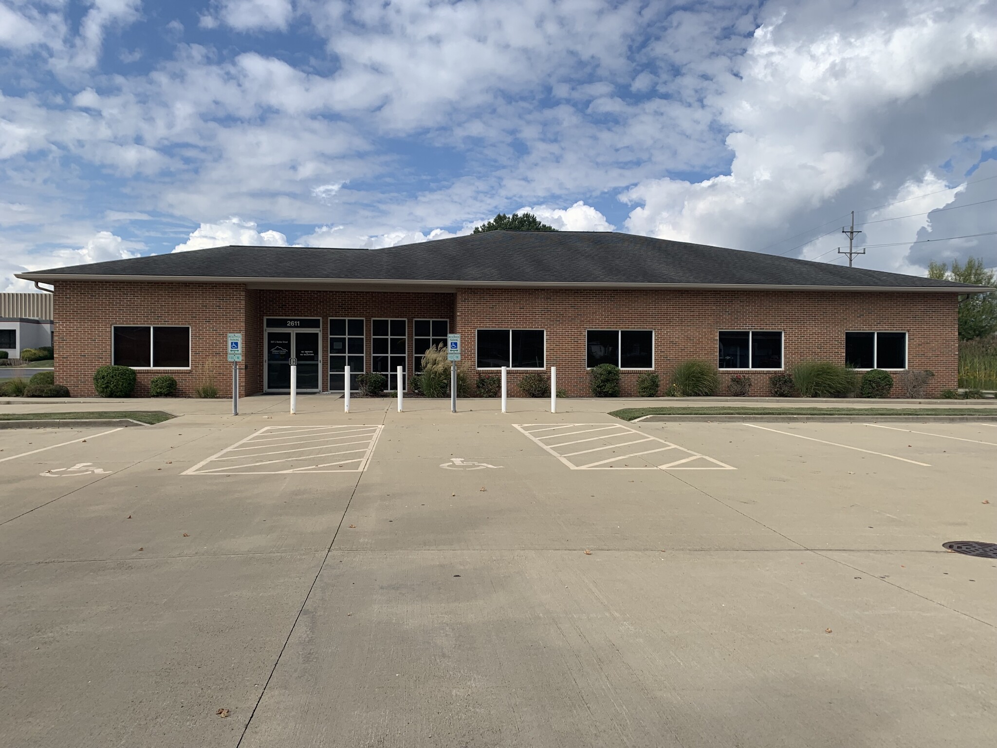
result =
[[264,392],[290,392],[292,358],[298,365],[298,391],[319,391],[321,331],[318,317],[266,317]]

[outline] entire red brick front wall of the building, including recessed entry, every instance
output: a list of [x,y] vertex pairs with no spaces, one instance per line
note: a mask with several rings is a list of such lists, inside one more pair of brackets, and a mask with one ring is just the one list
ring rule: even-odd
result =
[[[547,368],[568,394],[588,394],[586,329],[653,329],[655,369],[666,383],[682,361],[715,361],[719,330],[783,330],[785,365],[806,359],[844,361],[846,330],[905,330],[908,366],[935,372],[930,392],[957,381],[957,301],[954,294],[808,291],[612,291],[460,289],[451,293],[390,291],[246,290],[229,283],[58,281],[55,284],[56,381],[77,396],[96,394],[94,371],[111,363],[115,324],[172,324],[191,328],[189,370],[139,370],[137,395],[168,373],[190,396],[205,379],[231,395],[225,334],[242,332],[242,394],[263,388],[263,318],[320,317],[322,388],[328,385],[329,317],[363,317],[366,369],[371,369],[371,318],[408,320],[409,371],[416,353],[412,320],[450,319],[463,334],[464,358],[474,371],[479,327],[544,328]],[[722,372],[723,373],[723,372]],[[623,394],[636,394],[638,372],[623,372]],[[511,393],[520,374],[511,372]],[[753,395],[768,394],[770,372],[753,374]],[[726,382],[723,383],[726,388]],[[894,391],[894,394],[900,393]]]

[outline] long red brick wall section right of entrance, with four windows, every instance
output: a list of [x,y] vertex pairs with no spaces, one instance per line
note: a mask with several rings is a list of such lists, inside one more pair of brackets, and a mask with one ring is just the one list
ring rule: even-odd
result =
[[[906,331],[907,365],[935,373],[929,390],[935,394],[957,383],[957,310],[950,293],[463,288],[456,331],[474,366],[477,328],[546,329],[548,372],[556,366],[558,387],[574,396],[588,394],[587,329],[653,329],[662,387],[683,361],[715,362],[720,330],[783,330],[787,369],[808,359],[843,364],[847,330]],[[769,394],[773,372],[745,373],[752,395]],[[636,395],[638,375],[622,372],[623,395]],[[520,376],[509,372],[510,394]],[[728,381],[722,371],[721,394]],[[893,394],[901,396],[898,389]]]

